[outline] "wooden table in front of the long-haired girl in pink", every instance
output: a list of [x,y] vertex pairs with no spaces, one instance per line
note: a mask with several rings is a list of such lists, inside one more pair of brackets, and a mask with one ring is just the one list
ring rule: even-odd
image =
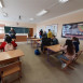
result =
[[47,49],[47,60],[49,60],[50,52],[51,52],[51,51],[54,52],[54,53],[60,52],[60,44],[51,45],[51,46],[45,46],[45,49]]

